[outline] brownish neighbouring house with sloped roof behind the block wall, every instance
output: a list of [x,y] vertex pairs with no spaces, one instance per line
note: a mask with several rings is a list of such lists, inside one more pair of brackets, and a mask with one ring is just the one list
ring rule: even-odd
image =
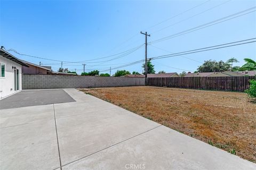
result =
[[76,75],[75,73],[54,72],[51,66],[41,66],[27,61],[23,61],[29,67],[22,66],[22,74],[56,74],[56,75]]

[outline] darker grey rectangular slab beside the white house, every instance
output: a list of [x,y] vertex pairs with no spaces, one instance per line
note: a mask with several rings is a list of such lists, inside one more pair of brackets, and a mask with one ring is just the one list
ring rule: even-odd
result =
[[0,100],[0,109],[75,101],[64,90],[26,90]]

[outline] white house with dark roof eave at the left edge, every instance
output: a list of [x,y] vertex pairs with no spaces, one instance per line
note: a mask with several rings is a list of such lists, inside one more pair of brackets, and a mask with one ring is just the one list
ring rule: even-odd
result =
[[22,90],[21,68],[29,67],[12,54],[0,49],[0,99]]

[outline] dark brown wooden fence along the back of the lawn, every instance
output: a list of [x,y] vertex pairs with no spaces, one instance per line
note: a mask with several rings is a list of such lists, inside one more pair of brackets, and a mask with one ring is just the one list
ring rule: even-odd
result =
[[147,78],[147,85],[186,89],[244,91],[249,88],[249,80],[251,79],[256,79],[256,76]]

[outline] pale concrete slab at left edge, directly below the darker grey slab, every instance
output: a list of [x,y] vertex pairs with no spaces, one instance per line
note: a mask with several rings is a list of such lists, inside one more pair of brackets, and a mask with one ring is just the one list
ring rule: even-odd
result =
[[53,105],[2,109],[0,111],[0,128],[53,119]]

